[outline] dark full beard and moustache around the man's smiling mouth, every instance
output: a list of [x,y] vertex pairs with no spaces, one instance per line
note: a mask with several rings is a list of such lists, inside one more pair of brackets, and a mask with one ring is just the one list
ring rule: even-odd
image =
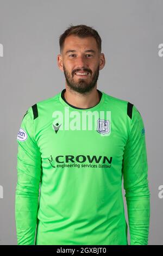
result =
[[[97,82],[98,76],[99,76],[99,65],[98,65],[93,77],[91,78],[91,82],[85,81],[86,80],[85,78],[84,79],[80,78],[78,80],[78,82],[74,81],[73,77],[75,76],[74,73],[76,71],[74,71],[72,77],[70,77],[70,75],[68,74],[64,65],[63,65],[63,69],[64,69],[67,86],[70,87],[70,89],[74,90],[75,92],[85,94],[85,93],[90,92],[96,86],[96,82]],[[89,76],[90,76],[90,74],[92,74],[92,72],[90,70],[83,69],[83,71],[89,72]]]

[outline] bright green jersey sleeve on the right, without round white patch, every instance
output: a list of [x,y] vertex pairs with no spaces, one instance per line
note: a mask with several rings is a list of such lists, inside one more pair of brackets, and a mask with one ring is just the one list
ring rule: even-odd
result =
[[148,186],[145,127],[141,114],[134,105],[122,170],[130,245],[148,245],[151,193]]

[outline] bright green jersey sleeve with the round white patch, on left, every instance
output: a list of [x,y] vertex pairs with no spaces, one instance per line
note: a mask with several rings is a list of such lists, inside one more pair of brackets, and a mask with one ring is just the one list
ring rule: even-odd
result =
[[15,220],[17,245],[34,245],[41,180],[41,155],[34,136],[34,119],[30,107],[17,135],[17,185]]

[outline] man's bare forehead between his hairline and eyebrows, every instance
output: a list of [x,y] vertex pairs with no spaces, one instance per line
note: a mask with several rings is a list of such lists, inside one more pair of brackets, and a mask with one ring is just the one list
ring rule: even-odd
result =
[[88,50],[90,48],[95,51],[98,50],[97,42],[92,36],[80,38],[76,35],[69,35],[64,42],[64,52],[67,50]]

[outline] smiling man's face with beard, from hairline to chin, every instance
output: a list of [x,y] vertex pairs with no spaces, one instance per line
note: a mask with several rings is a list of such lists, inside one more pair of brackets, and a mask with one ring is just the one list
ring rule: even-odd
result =
[[62,54],[58,56],[59,68],[64,71],[67,86],[78,93],[90,92],[97,84],[100,56],[93,37],[67,36]]

